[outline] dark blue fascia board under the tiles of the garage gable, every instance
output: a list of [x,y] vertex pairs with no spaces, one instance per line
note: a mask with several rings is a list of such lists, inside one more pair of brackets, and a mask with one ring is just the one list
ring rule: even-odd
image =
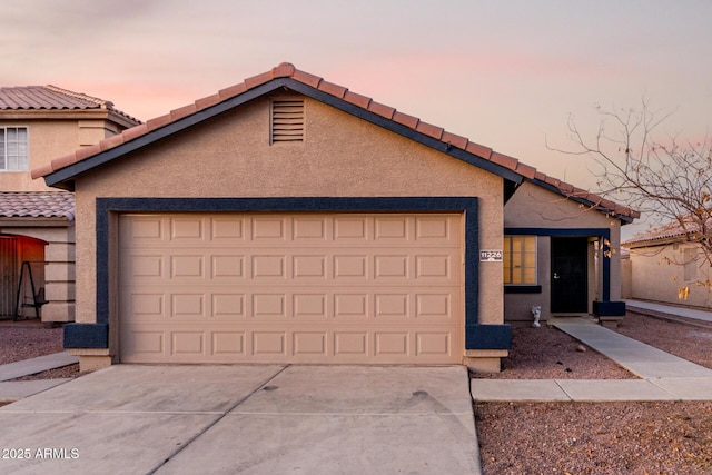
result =
[[[148,146],[155,141],[161,140],[172,133],[177,133],[182,131],[189,127],[192,127],[199,122],[214,118],[225,111],[228,111],[235,107],[241,106],[246,102],[249,102],[254,99],[259,98],[260,96],[267,95],[280,88],[287,88],[299,92],[304,96],[310,97],[312,99],[318,100],[319,102],[324,102],[328,106],[332,106],[338,110],[347,112],[352,116],[358,117],[363,120],[366,120],[370,123],[385,128],[389,131],[398,133],[403,137],[415,140],[419,144],[425,145],[434,150],[446,154],[453,158],[465,161],[475,167],[482,168],[486,171],[490,171],[494,175],[498,175],[500,177],[513,181],[515,184],[521,184],[524,179],[521,175],[504,168],[500,165],[496,165],[492,161],[488,161],[482,157],[477,157],[473,154],[469,154],[465,150],[461,150],[458,148],[448,146],[441,140],[428,137],[422,132],[411,129],[409,127],[397,123],[390,119],[387,119],[377,113],[370,112],[366,109],[363,109],[358,106],[349,103],[343,99],[339,99],[329,93],[319,91],[318,89],[313,88],[312,86],[307,86],[303,82],[299,82],[291,78],[276,78],[269,82],[265,82],[264,85],[257,86],[253,89],[249,89],[239,96],[235,96],[234,98],[227,99],[222,102],[219,102],[212,107],[207,109],[197,111],[188,117],[176,120],[174,122],[168,123],[165,127],[152,130],[144,136],[140,136],[129,142],[122,144],[118,147],[111,148],[107,151],[95,155],[93,157],[89,157],[79,162],[72,164],[68,167],[65,167],[60,170],[53,171],[47,176],[44,176],[44,182],[48,186],[60,186],[60,184],[65,181],[71,180],[73,177],[89,171],[90,169],[103,165],[108,161],[113,160],[120,156],[130,154],[136,151],[145,146]],[[73,188],[73,187],[71,187]]]

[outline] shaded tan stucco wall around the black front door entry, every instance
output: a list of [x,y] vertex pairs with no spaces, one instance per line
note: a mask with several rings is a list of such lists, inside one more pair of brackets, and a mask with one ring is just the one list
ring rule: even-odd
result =
[[[536,229],[607,229],[611,236],[611,248],[615,251],[610,257],[602,257],[602,253],[599,251],[599,260],[610,259],[610,299],[619,300],[621,298],[619,253],[621,226],[617,219],[582,207],[528,181],[522,184],[504,209],[505,228],[532,228],[532,235],[536,235]],[[542,293],[506,294],[505,319],[510,323],[531,323],[531,307],[533,305],[542,306],[542,319],[546,319],[551,314],[551,238],[538,236],[537,247],[537,284],[542,286]],[[596,251],[591,244],[589,250],[590,310],[592,310],[591,303],[601,298],[603,293],[599,283],[600,277],[595,275],[595,254]]]

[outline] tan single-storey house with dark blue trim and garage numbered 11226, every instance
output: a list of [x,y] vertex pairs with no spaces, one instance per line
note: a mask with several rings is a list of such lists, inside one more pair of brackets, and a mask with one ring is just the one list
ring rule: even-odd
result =
[[[85,368],[496,372],[508,315],[531,319],[524,306],[621,311],[615,258],[599,274],[587,266],[592,243],[617,245],[636,216],[289,63],[32,175],[77,192],[77,323],[65,346]],[[586,308],[547,296],[547,246],[560,240],[561,260],[584,266]]]

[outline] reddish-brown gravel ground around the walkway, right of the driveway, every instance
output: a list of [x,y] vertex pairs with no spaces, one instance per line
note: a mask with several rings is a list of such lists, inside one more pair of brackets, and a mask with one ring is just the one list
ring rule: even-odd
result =
[[[629,313],[617,330],[712,368],[712,325]],[[504,370],[477,377],[632,377],[596,352],[577,352],[578,342],[554,328],[513,334]],[[711,402],[478,403],[475,420],[485,475],[712,473]]]

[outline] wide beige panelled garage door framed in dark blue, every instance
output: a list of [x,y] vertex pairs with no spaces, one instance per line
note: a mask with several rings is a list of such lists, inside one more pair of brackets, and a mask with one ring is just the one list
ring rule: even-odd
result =
[[461,363],[461,215],[122,215],[126,363]]

